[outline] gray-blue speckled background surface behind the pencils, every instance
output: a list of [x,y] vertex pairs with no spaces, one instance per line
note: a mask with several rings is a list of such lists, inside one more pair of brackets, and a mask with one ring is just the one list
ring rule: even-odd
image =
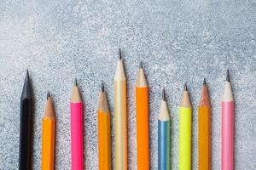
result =
[[150,86],[151,167],[157,169],[161,88],[172,112],[172,169],[178,167],[183,82],[194,106],[193,169],[202,78],[212,97],[212,169],[220,169],[220,103],[230,68],[236,99],[236,169],[256,169],[254,0],[21,1],[0,3],[0,169],[18,168],[20,93],[29,68],[35,94],[33,169],[40,169],[41,117],[49,90],[57,119],[55,169],[70,169],[69,97],[78,77],[84,99],[86,169],[97,169],[96,107],[106,82],[113,114],[113,74],[123,48],[128,79],[129,169],[136,169],[134,84],[139,60]]

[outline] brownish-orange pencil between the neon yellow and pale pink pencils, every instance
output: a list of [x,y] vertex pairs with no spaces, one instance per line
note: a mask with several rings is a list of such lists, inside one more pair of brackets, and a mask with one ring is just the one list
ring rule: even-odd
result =
[[211,169],[211,103],[206,79],[198,106],[198,169]]

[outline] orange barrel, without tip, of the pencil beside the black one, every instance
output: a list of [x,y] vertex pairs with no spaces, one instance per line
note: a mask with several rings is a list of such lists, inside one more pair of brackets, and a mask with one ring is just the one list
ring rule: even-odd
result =
[[42,120],[42,170],[54,169],[55,118],[44,117]]

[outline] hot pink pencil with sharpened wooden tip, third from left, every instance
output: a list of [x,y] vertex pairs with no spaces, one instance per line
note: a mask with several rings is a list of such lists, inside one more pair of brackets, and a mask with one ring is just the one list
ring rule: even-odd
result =
[[77,80],[72,90],[70,102],[71,110],[71,164],[72,170],[83,170],[83,125],[82,125],[82,99],[79,94]]

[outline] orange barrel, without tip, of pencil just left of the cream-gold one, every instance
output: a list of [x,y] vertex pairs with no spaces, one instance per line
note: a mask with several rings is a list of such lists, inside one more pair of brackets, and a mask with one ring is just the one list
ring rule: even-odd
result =
[[98,111],[99,170],[111,170],[110,114]]

